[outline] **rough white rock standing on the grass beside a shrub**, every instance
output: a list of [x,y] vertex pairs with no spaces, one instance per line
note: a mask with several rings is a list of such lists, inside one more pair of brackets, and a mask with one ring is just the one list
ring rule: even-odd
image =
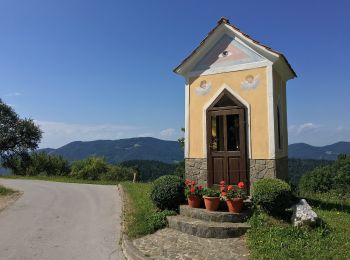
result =
[[314,226],[318,220],[318,216],[315,211],[305,199],[301,199],[297,204],[292,207],[292,223],[294,226]]

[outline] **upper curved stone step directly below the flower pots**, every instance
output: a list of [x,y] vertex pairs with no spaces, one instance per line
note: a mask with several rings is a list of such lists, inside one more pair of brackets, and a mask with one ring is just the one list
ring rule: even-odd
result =
[[180,206],[180,215],[212,222],[243,223],[249,217],[249,210],[241,213],[230,213],[227,211],[208,211],[203,208],[190,208],[188,205]]

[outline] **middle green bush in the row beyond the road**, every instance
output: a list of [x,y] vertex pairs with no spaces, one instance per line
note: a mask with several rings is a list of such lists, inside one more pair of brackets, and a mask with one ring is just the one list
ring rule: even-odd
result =
[[89,157],[84,160],[75,161],[72,164],[70,175],[77,179],[99,180],[103,173],[108,171],[108,164],[104,158]]

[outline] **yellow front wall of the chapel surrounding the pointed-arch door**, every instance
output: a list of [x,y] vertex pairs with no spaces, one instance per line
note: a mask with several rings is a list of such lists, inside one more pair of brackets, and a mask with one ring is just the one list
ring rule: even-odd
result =
[[[248,75],[259,75],[260,83],[255,89],[243,89],[241,82]],[[224,84],[228,85],[241,98],[250,104],[250,159],[269,159],[268,98],[266,67],[203,75],[189,79],[189,126],[188,158],[206,158],[204,138],[204,107],[219,94]],[[203,96],[196,94],[202,80],[211,83],[211,90]],[[249,131],[249,130],[248,130]],[[247,134],[248,139],[248,134]]]

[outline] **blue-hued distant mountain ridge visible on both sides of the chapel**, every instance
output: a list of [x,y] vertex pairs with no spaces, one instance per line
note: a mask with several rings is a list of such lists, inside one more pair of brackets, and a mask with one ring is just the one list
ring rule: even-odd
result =
[[[350,142],[338,142],[321,147],[296,143],[288,147],[289,158],[336,160],[339,154],[350,155]],[[81,160],[89,156],[104,156],[110,163],[130,160],[174,163],[184,158],[184,151],[177,141],[165,141],[152,137],[75,141],[57,149],[44,148],[38,151],[61,155],[69,161]]]

